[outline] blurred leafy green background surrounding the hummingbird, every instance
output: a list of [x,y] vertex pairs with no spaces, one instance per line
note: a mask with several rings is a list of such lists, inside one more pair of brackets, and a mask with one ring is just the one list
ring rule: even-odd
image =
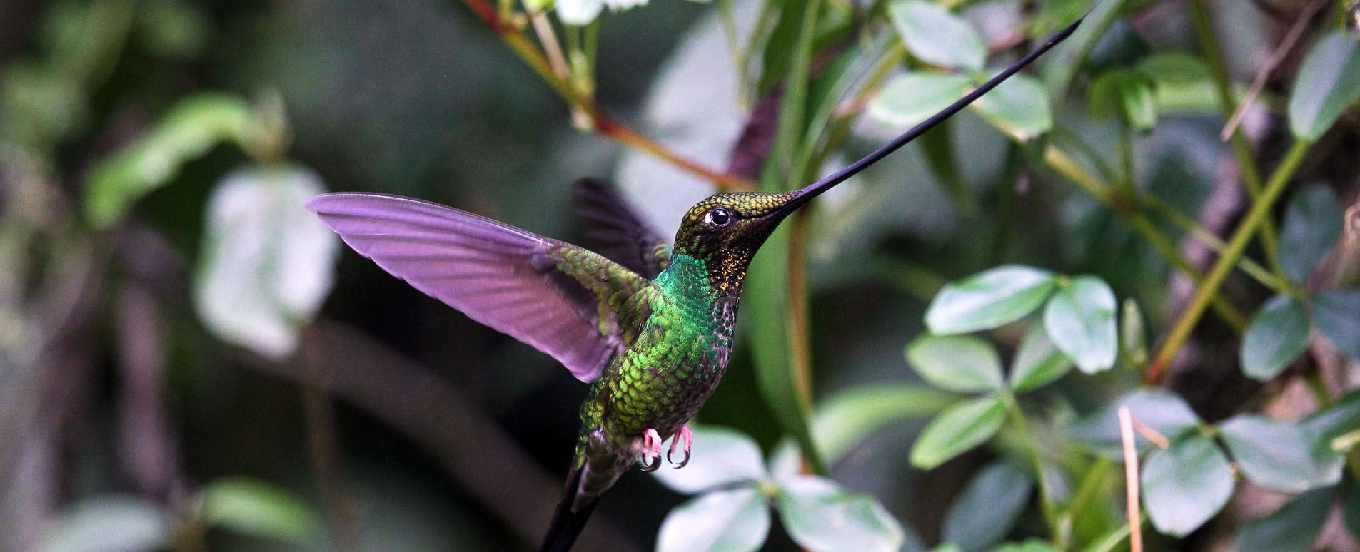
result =
[[306,197],[579,242],[608,175],[670,234],[1088,8],[762,250],[695,464],[581,548],[1127,549],[1126,405],[1146,547],[1356,549],[1355,5],[617,7],[0,5],[0,549],[530,548],[585,386]]

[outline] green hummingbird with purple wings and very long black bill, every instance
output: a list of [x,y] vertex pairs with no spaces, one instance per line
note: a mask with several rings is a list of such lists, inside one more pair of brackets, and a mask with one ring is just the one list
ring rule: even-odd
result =
[[[307,207],[393,276],[518,339],[590,383],[566,489],[540,551],[567,551],[598,498],[636,462],[690,461],[698,413],[728,367],[752,257],[813,197],[949,118],[1081,23],[957,102],[805,188],[719,193],[684,213],[673,245],[600,179],[577,186],[600,253],[409,197],[326,193]],[[601,254],[602,253],[602,254]],[[676,451],[680,458],[676,460]]]

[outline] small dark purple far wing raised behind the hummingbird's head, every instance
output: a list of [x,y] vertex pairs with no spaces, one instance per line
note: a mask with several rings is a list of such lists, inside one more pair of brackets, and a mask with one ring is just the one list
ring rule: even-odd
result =
[[592,223],[586,238],[609,260],[647,279],[670,264],[670,246],[628,207],[609,181],[582,178],[575,186],[577,209]]

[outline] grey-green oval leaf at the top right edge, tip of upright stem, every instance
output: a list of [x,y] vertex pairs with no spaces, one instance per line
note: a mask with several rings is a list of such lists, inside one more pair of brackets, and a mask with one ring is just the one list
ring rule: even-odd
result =
[[1312,45],[1289,95],[1289,131],[1316,141],[1360,95],[1360,44],[1340,30]]

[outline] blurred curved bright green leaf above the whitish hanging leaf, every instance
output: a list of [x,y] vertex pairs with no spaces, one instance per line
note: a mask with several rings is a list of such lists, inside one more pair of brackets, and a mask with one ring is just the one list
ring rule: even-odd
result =
[[218,144],[252,148],[256,126],[250,105],[239,97],[197,94],[180,101],[151,132],[90,169],[86,218],[95,228],[117,223],[135,201]]

